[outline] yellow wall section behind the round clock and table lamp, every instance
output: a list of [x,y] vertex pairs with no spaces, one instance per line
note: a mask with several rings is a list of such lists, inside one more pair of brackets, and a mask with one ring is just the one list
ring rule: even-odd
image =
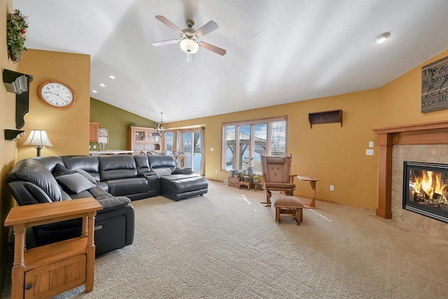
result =
[[[46,130],[52,147],[41,155],[88,155],[90,119],[90,55],[31,50],[23,53],[19,71],[33,76],[29,92],[29,113],[25,115],[27,136],[31,130]],[[38,97],[37,88],[43,81],[57,79],[76,93],[76,104],[69,109],[51,109]],[[36,156],[34,146],[21,146],[18,159]]]

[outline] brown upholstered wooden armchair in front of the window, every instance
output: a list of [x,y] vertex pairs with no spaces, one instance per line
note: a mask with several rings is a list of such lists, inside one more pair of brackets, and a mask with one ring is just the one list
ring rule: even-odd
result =
[[271,191],[283,191],[286,195],[294,195],[294,174],[291,174],[293,155],[284,157],[261,156],[263,180],[265,181],[266,202],[270,204]]

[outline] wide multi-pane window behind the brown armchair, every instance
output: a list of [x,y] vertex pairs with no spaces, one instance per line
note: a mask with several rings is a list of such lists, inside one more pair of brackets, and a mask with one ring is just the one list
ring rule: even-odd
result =
[[244,169],[253,158],[261,173],[261,155],[286,155],[286,117],[223,124],[222,169]]

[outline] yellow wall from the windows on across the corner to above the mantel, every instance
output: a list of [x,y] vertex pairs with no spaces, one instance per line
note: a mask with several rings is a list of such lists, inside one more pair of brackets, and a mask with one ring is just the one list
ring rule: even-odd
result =
[[[377,135],[372,129],[426,123],[448,118],[448,109],[421,113],[421,67],[448,56],[448,50],[375,90],[354,92],[262,109],[197,118],[169,127],[205,124],[206,176],[223,181],[221,169],[221,123],[273,116],[288,116],[288,153],[293,154],[293,173],[315,176],[317,197],[356,207],[377,207]],[[308,113],[342,109],[338,123],[309,127]],[[365,155],[374,141],[374,155]],[[210,148],[218,151],[210,151]],[[218,174],[215,174],[218,170]],[[296,195],[312,196],[308,182],[295,180]],[[330,191],[330,185],[335,186]]]

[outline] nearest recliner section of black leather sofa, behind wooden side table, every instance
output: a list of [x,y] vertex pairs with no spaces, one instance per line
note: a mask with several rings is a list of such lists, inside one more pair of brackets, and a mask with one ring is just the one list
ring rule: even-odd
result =
[[[132,244],[134,240],[134,208],[124,196],[113,196],[98,186],[79,193],[70,193],[59,185],[53,173],[57,165],[64,165],[59,157],[38,157],[20,160],[11,169],[6,181],[20,205],[76,200],[94,197],[104,209],[95,221],[96,254],[106,253]],[[116,227],[120,223],[120,227]],[[80,219],[34,226],[36,246],[77,237],[81,232]]]

